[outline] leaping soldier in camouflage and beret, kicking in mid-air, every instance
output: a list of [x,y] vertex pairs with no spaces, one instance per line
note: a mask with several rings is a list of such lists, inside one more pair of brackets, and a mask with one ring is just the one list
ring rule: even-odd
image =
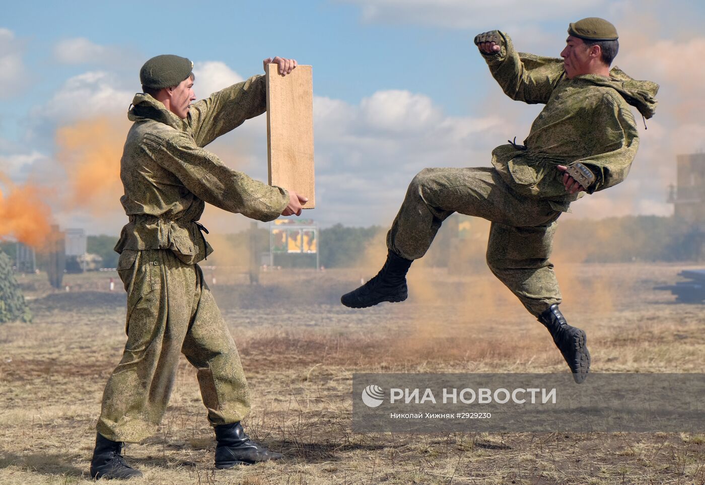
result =
[[387,234],[386,263],[370,281],[341,297],[364,308],[406,300],[406,273],[424,255],[446,217],[491,221],[487,264],[551,332],[573,377],[587,377],[584,331],[566,323],[551,254],[556,219],[570,202],[620,183],[637,153],[629,105],[651,118],[658,85],[610,69],[619,47],[614,25],[601,18],[571,23],[563,59],[517,53],[498,30],[475,37],[505,94],[546,104],[524,145],[492,152],[491,168],[426,168],[409,185]]

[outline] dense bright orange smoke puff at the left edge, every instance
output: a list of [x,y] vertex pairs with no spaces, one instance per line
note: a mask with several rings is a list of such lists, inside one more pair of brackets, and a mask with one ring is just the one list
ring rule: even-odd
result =
[[4,177],[0,182],[0,239],[14,236],[20,243],[39,247],[51,232],[51,209],[42,200],[42,189],[15,185]]

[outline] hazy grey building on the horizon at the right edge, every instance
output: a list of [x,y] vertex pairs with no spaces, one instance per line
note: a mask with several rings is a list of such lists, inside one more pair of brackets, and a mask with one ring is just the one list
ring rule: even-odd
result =
[[676,163],[677,184],[668,195],[673,216],[705,231],[705,153],[678,155]]

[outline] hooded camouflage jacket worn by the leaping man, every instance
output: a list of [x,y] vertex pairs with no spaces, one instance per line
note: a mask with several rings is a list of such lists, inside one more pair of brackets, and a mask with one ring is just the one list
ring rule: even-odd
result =
[[505,94],[529,104],[546,104],[534,120],[525,149],[501,145],[492,163],[522,195],[551,201],[566,211],[581,192],[569,195],[556,168],[580,161],[596,181],[587,192],[616,185],[629,173],[639,146],[639,133],[629,105],[645,118],[654,116],[658,85],[637,81],[619,68],[610,77],[578,75],[568,79],[563,59],[517,53],[508,35],[501,51],[483,54]]

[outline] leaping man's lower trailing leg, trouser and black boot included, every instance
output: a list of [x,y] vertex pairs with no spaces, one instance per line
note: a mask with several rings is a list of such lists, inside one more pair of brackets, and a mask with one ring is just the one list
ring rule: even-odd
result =
[[558,223],[514,227],[493,222],[487,245],[491,271],[517,295],[534,317],[546,326],[563,355],[575,382],[582,383],[590,369],[585,332],[568,325],[558,309],[561,302],[551,256]]

